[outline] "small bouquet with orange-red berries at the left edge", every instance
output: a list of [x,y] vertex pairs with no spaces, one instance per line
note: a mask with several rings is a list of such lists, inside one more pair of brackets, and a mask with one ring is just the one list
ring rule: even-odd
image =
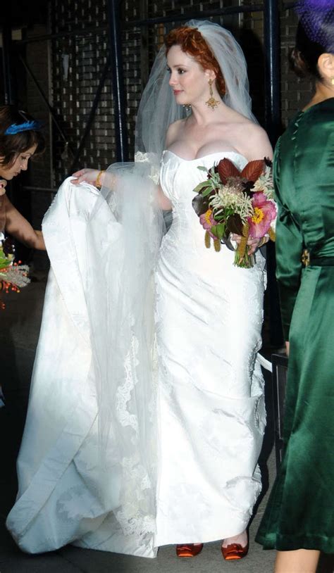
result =
[[[5,242],[0,242],[0,290],[20,292],[20,288],[30,282],[27,276],[29,267],[13,262],[14,255],[8,253]],[[4,303],[0,302],[0,308],[4,308]]]

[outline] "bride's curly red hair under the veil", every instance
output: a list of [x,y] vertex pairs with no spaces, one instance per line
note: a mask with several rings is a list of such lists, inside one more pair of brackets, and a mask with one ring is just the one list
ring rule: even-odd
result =
[[216,87],[218,92],[221,96],[225,95],[225,80],[221,73],[221,68],[214,57],[214,53],[208,44],[206,44],[204,37],[197,28],[187,26],[175,28],[175,30],[171,30],[171,32],[165,36],[164,43],[166,46],[166,56],[172,46],[180,46],[181,50],[195,58],[197,62],[202,65],[204,70],[213,70],[216,74]]

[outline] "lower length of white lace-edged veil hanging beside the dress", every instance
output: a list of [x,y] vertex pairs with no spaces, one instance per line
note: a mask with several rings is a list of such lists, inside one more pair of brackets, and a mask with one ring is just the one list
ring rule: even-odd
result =
[[[163,233],[147,164],[113,165],[113,190],[101,189],[87,226],[86,285],[97,386],[101,500],[119,553],[154,557],[156,373],[153,270]],[[140,182],[140,183],[139,183]],[[97,256],[94,229],[109,205],[116,228]],[[146,229],[140,237],[137,229]],[[110,235],[110,233],[109,233]],[[104,249],[105,251],[105,249]]]

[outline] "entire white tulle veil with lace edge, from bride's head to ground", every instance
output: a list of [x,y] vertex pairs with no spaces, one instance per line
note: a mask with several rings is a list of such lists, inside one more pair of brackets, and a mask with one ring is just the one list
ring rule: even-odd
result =
[[[221,66],[227,88],[223,101],[254,120],[245,57],[232,34],[210,22],[191,20],[187,25],[198,28]],[[156,183],[167,128],[185,117],[168,80],[162,47],[140,102],[135,163],[109,167],[108,176],[115,185],[101,189],[91,214],[94,222],[99,208],[108,203],[118,227],[118,239],[97,274],[94,253],[98,246],[89,227],[87,232],[87,256],[92,260],[87,306],[97,373],[102,496],[113,501],[118,535],[123,534],[125,546],[136,547],[124,550],[120,543],[120,552],[147,556],[155,554],[154,267],[164,232]],[[99,296],[96,276],[101,283]]]

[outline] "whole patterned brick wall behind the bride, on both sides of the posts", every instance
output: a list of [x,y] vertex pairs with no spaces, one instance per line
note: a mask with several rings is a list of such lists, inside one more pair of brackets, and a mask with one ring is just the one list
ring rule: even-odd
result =
[[[137,106],[156,51],[163,34],[184,23],[180,15],[203,12],[239,4],[259,4],[255,0],[124,0],[121,2],[123,22],[123,75],[125,82],[126,118],[130,158],[134,147]],[[92,102],[109,53],[108,15],[106,0],[52,0],[49,22],[33,27],[36,36],[49,29],[53,34],[65,32],[49,42],[29,44],[27,61],[35,70],[39,82],[49,94],[59,125],[65,134],[59,134],[53,125],[49,149],[41,164],[33,165],[32,180],[39,187],[58,187],[71,171],[82,134],[84,133]],[[282,3],[280,2],[280,7]],[[131,21],[144,18],[174,16],[165,25],[132,27]],[[263,14],[258,11],[245,14],[215,16],[214,21],[228,27],[245,51],[249,70],[253,111],[264,122],[264,50]],[[309,82],[298,80],[287,67],[287,51],[293,44],[296,18],[292,10],[280,10],[281,37],[281,91],[283,125],[303,105],[311,93]],[[68,32],[73,35],[68,35]],[[78,32],[78,33],[74,33]],[[81,33],[82,32],[82,33]],[[48,126],[47,112],[39,94],[27,80],[27,108],[42,117]],[[105,168],[116,158],[115,118],[111,71],[106,77],[101,99],[85,141],[84,149],[75,168],[94,166]],[[44,202],[50,201],[46,196]],[[42,211],[44,204],[39,208]],[[36,208],[37,209],[37,208]],[[38,215],[39,216],[39,215]],[[37,217],[38,218],[38,217]]]

